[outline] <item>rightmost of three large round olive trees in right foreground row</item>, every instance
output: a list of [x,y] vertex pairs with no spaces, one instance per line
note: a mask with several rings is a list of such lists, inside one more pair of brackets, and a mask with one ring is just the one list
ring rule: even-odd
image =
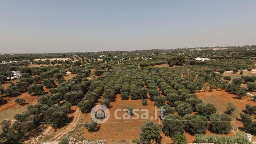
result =
[[227,134],[231,130],[231,117],[227,114],[211,114],[211,129],[215,132]]

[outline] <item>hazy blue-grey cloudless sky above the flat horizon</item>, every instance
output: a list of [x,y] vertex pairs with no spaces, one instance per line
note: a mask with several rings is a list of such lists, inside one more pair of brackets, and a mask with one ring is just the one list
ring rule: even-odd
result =
[[256,0],[0,0],[0,53],[256,45]]

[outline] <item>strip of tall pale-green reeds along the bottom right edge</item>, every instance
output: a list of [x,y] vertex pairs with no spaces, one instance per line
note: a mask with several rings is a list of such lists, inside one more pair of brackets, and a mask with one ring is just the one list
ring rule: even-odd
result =
[[234,136],[225,135],[195,135],[196,143],[214,143],[214,144],[249,144],[247,135],[238,132]]

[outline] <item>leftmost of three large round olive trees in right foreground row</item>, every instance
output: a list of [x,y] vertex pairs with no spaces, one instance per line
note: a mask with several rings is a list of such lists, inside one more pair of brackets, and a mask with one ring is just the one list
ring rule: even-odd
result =
[[172,120],[184,120],[181,116],[169,114],[163,119],[163,133],[165,135],[173,137],[176,133],[183,133],[185,124],[183,121]]

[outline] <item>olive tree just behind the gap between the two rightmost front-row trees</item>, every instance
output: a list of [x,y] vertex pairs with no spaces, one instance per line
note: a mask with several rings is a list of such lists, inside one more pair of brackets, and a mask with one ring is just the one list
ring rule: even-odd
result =
[[206,103],[206,104],[199,103],[195,106],[195,109],[198,112],[198,114],[200,114],[202,116],[206,116],[208,119],[211,114],[214,114],[217,112],[215,105],[213,105],[211,103]]

